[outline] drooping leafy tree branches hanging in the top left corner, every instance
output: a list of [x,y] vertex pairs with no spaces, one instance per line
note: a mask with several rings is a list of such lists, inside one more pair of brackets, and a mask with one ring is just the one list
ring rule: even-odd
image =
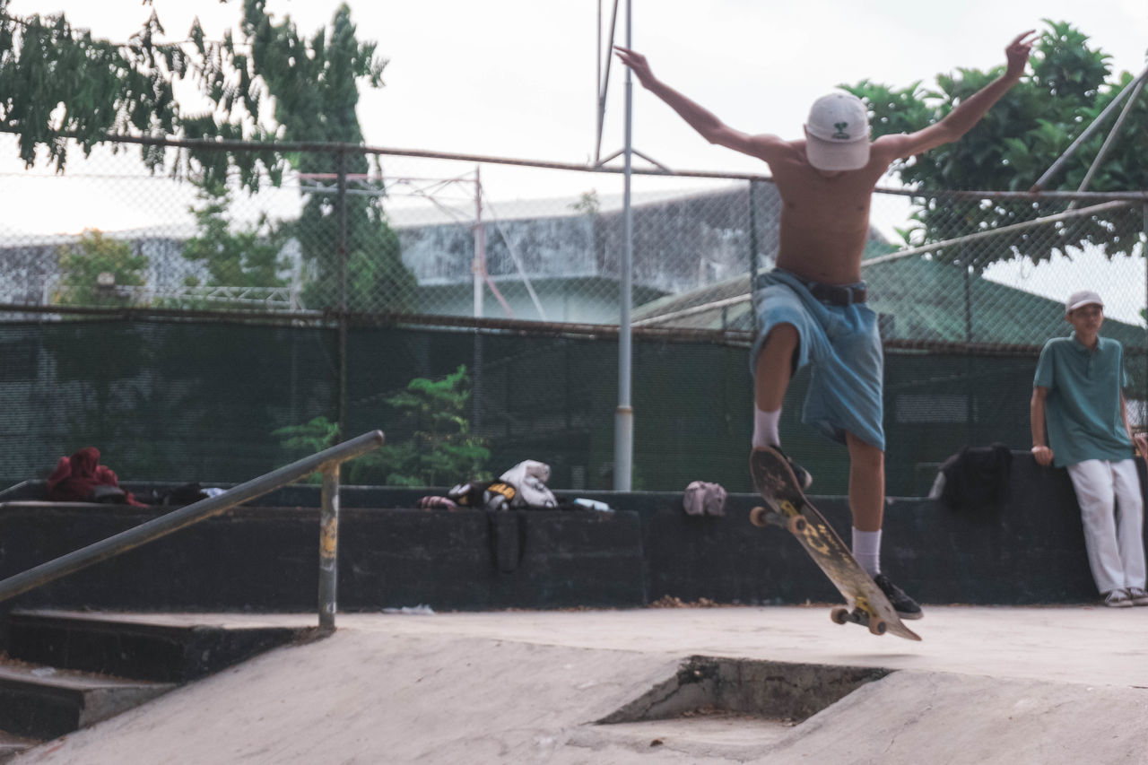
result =
[[[273,126],[258,122],[259,83],[246,70],[225,75],[179,44],[160,42],[165,31],[155,13],[127,42],[111,42],[73,28],[64,14],[22,17],[9,6],[9,0],[0,0],[0,131],[20,136],[20,157],[29,167],[37,161],[37,149],[46,147],[62,172],[70,140],[88,154],[108,134],[274,138]],[[197,22],[192,37],[202,56],[205,46]],[[231,34],[224,45],[234,47]],[[185,79],[200,84],[207,107],[180,105],[174,84]],[[163,147],[145,146],[141,152],[148,168],[165,167]],[[262,152],[186,154],[194,172],[222,179],[235,168],[251,188],[264,173],[274,183],[281,176],[281,157],[271,146]]]

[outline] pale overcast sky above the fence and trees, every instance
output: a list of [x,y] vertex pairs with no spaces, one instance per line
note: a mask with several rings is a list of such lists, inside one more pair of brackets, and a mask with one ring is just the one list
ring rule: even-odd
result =
[[[379,54],[389,60],[386,86],[362,93],[359,119],[369,145],[572,163],[592,157],[597,0],[350,5],[359,39],[377,41]],[[613,0],[602,5],[608,16]],[[620,5],[625,10],[626,0]],[[289,14],[307,32],[328,23],[336,6],[329,0],[267,2],[272,13]],[[171,39],[186,39],[196,15],[209,36],[219,37],[224,29],[238,28],[240,2],[10,3],[22,15],[62,10],[75,25],[113,40],[125,40],[153,9]],[[1040,28],[1041,18],[1073,23],[1112,55],[1117,70],[1139,74],[1146,65],[1146,0],[634,0],[633,45],[662,79],[730,125],[796,137],[808,105],[839,83],[869,78],[906,86],[960,67],[994,67],[1003,63],[1006,44],[1025,29]],[[625,40],[621,14],[616,39]],[[622,74],[613,68],[603,156],[622,147]],[[674,169],[766,171],[755,160],[706,144],[636,84],[634,145]],[[9,155],[0,156],[0,170],[22,168]],[[83,163],[69,165],[69,173],[83,170]],[[497,172],[491,169],[488,183],[497,180]],[[495,199],[572,194],[590,186],[604,195],[621,191],[616,177],[577,175],[505,175]],[[45,193],[59,194],[59,184],[53,186]],[[37,193],[22,199],[30,207],[39,204]],[[111,211],[98,210],[91,195],[88,200],[75,219],[57,217],[62,229],[56,230],[101,225],[88,222],[85,210],[103,227],[131,222],[124,206],[118,209],[122,221],[111,221]],[[13,217],[31,219],[18,211]]]

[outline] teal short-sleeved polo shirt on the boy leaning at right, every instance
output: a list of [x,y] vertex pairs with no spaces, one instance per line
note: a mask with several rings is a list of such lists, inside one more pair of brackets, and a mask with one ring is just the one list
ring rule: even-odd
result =
[[1097,338],[1096,348],[1089,350],[1076,332],[1053,338],[1040,351],[1032,385],[1048,388],[1045,427],[1057,468],[1132,457],[1132,441],[1120,416],[1127,374],[1119,341]]

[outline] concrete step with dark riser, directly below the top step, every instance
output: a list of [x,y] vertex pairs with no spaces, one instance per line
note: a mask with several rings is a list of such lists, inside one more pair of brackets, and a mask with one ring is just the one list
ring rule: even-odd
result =
[[0,729],[55,739],[138,706],[176,685],[100,677],[23,662],[0,664]]

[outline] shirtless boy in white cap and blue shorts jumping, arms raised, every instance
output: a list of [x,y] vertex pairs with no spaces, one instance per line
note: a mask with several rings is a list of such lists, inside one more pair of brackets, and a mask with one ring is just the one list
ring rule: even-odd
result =
[[[848,448],[853,555],[905,619],[921,618],[921,606],[881,572],[883,357],[876,315],[864,304],[861,281],[869,202],[893,162],[955,141],[1021,79],[1035,41],[1032,34],[1030,30],[1009,42],[1004,74],[962,100],[944,119],[915,133],[882,136],[872,141],[864,103],[848,93],[817,99],[802,139],[752,136],[726,125],[659,80],[643,55],[616,49],[642,86],[706,140],[769,165],[783,207],[777,268],[754,285],[759,334],[751,355],[753,447],[779,446],[777,423],[785,389],[796,370],[812,364],[804,420]],[[808,487],[813,480],[809,473],[790,463],[798,480]]]

